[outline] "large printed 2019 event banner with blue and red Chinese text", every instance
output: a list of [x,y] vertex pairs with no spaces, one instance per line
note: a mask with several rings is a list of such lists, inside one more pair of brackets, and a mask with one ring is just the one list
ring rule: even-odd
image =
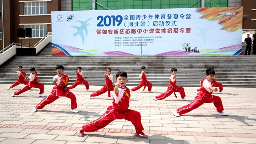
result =
[[241,55],[242,7],[52,12],[53,55]]

